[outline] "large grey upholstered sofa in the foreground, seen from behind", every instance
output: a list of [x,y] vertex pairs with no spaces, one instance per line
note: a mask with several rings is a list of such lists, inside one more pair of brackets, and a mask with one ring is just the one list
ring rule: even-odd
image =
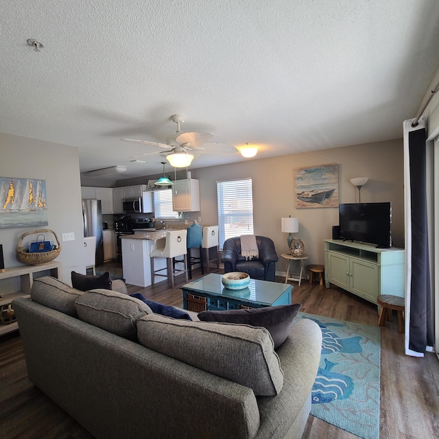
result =
[[97,438],[302,436],[322,342],[311,320],[274,351],[265,328],[172,319],[49,276],[13,307],[30,381]]

